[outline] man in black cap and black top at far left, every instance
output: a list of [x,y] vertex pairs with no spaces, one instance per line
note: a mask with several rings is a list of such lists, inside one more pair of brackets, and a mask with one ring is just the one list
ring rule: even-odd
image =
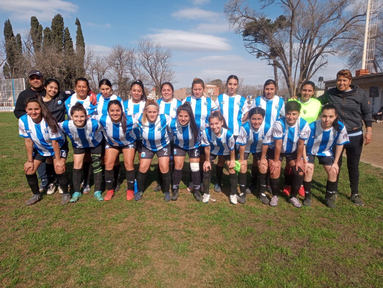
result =
[[33,97],[34,94],[38,93],[41,97],[45,97],[44,76],[40,71],[31,70],[28,74],[28,81],[31,87],[21,91],[19,97],[17,97],[15,110],[13,111],[17,118],[26,114],[25,101]]

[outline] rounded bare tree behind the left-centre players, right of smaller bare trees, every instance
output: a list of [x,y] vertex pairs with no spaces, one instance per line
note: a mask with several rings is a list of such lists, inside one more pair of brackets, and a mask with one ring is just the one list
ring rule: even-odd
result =
[[147,84],[154,86],[156,93],[160,92],[163,82],[177,82],[172,63],[172,51],[164,49],[160,43],[149,39],[139,39],[137,43],[137,59],[139,67],[146,71],[149,79]]

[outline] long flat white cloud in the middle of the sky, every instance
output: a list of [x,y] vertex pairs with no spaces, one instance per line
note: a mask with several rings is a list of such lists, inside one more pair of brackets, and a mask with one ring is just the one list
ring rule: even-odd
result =
[[179,51],[228,51],[232,47],[226,38],[182,30],[163,29],[144,37],[160,42],[162,46]]

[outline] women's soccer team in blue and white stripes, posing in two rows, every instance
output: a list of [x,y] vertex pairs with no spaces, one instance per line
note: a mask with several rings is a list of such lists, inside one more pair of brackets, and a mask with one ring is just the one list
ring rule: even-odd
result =
[[[121,184],[119,155],[123,154],[128,201],[139,201],[144,196],[146,174],[154,155],[158,158],[155,191],[162,190],[164,201],[177,201],[182,195],[180,181],[188,155],[187,191],[196,201],[208,203],[213,162],[218,156],[214,191],[221,192],[226,162],[229,202],[244,204],[246,194],[256,192],[260,202],[270,206],[278,205],[281,163],[285,158],[282,195],[298,208],[302,204],[311,206],[314,160],[318,158],[327,173],[324,203],[334,208],[338,161],[344,145],[349,143],[336,106],[322,106],[313,98],[315,84],[311,81],[301,85],[298,98],[284,102],[275,95],[277,85],[270,79],[264,84],[263,95],[256,97],[249,109],[247,99],[236,94],[238,84],[238,77],[230,75],[226,93],[214,102],[204,95],[203,80],[195,78],[191,95],[181,102],[173,98],[173,85],[165,82],[160,87],[162,98],[156,102],[147,98],[144,85],[137,80],[131,84],[130,99],[123,101],[113,94],[109,80],[99,82],[100,93],[93,99],[87,79],[78,78],[76,93],[66,99],[57,98],[60,104],[65,101],[65,107],[61,107],[66,109],[67,120],[53,117],[52,108],[47,108],[40,95],[34,95],[26,101],[26,114],[19,119],[19,134],[25,138],[28,158],[24,172],[33,193],[26,205],[42,199],[36,175],[42,162],[47,163],[49,184],[53,185],[56,175],[61,204],[77,202],[89,193],[92,174],[94,198],[110,201]],[[44,87],[51,99],[59,97],[57,80],[47,79]],[[73,147],[72,194],[65,166],[67,137]],[[133,165],[136,152],[137,171]],[[251,179],[247,186],[250,154]],[[48,194],[54,193],[51,190]],[[267,192],[271,195],[267,196]],[[303,197],[302,204],[298,194]]]

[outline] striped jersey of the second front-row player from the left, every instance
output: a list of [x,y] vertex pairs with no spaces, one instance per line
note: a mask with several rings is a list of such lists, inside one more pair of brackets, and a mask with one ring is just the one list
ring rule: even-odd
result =
[[61,130],[69,136],[72,145],[77,148],[96,147],[103,139],[103,127],[96,120],[88,118],[83,127],[76,127],[73,120],[59,123]]

